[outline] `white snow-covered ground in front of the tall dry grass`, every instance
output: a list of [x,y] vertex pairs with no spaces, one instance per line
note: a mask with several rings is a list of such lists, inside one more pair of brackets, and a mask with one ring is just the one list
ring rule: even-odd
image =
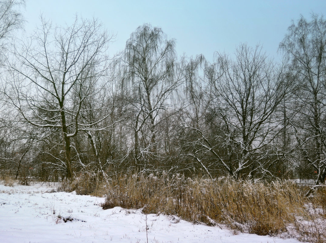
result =
[[[1,243],[75,242],[298,242],[233,233],[227,229],[121,207],[103,210],[104,198],[53,192],[45,184],[0,185]],[[147,230],[146,230],[147,225]],[[148,239],[148,240],[147,240]]]

